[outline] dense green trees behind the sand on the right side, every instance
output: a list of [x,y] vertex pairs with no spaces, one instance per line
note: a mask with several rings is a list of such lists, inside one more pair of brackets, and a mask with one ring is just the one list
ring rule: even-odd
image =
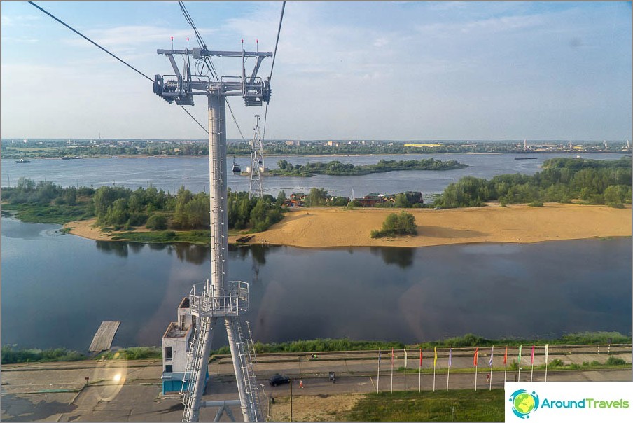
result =
[[450,183],[435,205],[443,208],[478,207],[499,200],[506,204],[543,205],[543,202],[631,204],[631,158],[588,160],[553,158],[543,162],[543,170],[529,176],[504,174],[487,179],[464,176]]

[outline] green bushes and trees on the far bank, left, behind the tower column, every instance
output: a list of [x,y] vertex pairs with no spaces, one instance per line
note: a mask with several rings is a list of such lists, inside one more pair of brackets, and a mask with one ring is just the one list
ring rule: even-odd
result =
[[[106,231],[139,227],[157,231],[119,234],[118,239],[188,242],[206,237],[207,243],[209,239],[209,195],[183,187],[172,195],[152,186],[62,188],[50,181],[20,178],[17,186],[3,188],[2,200],[4,209],[27,222],[63,224],[96,217]],[[272,195],[249,198],[248,193],[228,191],[229,229],[260,232],[282,217],[281,205]]]

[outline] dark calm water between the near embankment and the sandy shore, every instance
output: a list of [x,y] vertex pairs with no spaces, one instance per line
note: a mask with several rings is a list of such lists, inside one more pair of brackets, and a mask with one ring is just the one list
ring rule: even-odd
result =
[[[2,219],[2,345],[88,349],[104,320],[113,345],[160,345],[176,307],[209,275],[209,249],[97,242],[60,226]],[[476,333],[631,333],[631,239],[442,247],[241,247],[229,279],[250,282],[244,316],[263,342],[416,342]],[[223,331],[214,347],[225,344]]]

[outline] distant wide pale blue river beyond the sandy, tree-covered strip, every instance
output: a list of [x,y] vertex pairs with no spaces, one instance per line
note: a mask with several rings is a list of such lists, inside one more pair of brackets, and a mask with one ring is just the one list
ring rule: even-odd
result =
[[[618,153],[585,154],[584,158],[617,160]],[[265,165],[277,169],[279,160],[304,165],[307,162],[329,162],[339,160],[354,165],[370,165],[379,160],[457,160],[469,167],[464,169],[429,171],[407,170],[369,174],[364,176],[327,176],[311,178],[267,177],[263,181],[265,193],[277,197],[280,190],[286,195],[307,193],[310,188],[324,188],[332,195],[362,197],[368,193],[402,193],[420,191],[424,194],[441,193],[451,182],[462,176],[490,179],[498,174],[534,174],[541,169],[543,161],[555,157],[576,157],[572,153],[519,154],[419,154],[419,155],[350,155],[350,156],[275,156],[266,158]],[[534,160],[515,160],[533,157]],[[229,158],[229,165],[232,158]],[[235,161],[246,169],[249,158]],[[18,164],[15,160],[2,160],[2,186],[15,186],[20,176],[41,181],[46,179],[62,186],[125,186],[136,189],[150,184],[156,188],[175,193],[185,186],[193,193],[209,190],[209,162],[206,158],[86,158],[79,160],[31,159],[30,163]],[[249,190],[249,177],[228,175],[228,186],[232,190]]]

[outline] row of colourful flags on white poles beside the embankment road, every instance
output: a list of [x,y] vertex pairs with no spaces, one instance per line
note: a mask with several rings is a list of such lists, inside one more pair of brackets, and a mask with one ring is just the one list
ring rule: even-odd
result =
[[[518,363],[519,370],[517,373],[517,380],[520,380],[521,377],[521,354],[522,354],[523,345],[519,346],[519,354],[518,354]],[[531,375],[530,382],[534,377],[534,352],[536,349],[536,345],[532,345],[530,363],[531,363]],[[550,345],[545,344],[545,382],[548,380],[548,353],[549,353]],[[403,349],[404,352],[404,368],[405,368],[405,389],[407,386],[407,371],[408,368],[408,353],[406,349]],[[419,376],[418,376],[418,391],[422,390],[422,348],[419,349]],[[450,379],[450,368],[452,366],[452,356],[453,349],[451,346],[448,347],[448,372],[446,377],[446,390],[448,390],[448,382]],[[477,390],[477,367],[478,367],[478,356],[479,356],[479,347],[475,347],[475,353],[473,354],[473,366],[475,367],[475,391]],[[489,389],[492,389],[492,359],[494,357],[494,345],[490,349],[490,357],[488,359],[488,366],[490,368],[489,373],[487,375],[487,382],[489,383]],[[394,349],[391,348],[391,392],[394,391]],[[380,391],[380,361],[382,360],[382,349],[378,349],[378,374],[377,374],[377,384],[376,384],[376,392]],[[433,347],[433,391],[436,390],[436,367],[438,364],[438,350],[436,347]],[[503,381],[506,381],[506,375],[508,373],[508,346],[506,346],[506,352],[503,354],[503,366],[504,366],[504,374]]]

